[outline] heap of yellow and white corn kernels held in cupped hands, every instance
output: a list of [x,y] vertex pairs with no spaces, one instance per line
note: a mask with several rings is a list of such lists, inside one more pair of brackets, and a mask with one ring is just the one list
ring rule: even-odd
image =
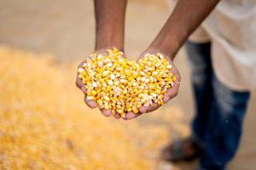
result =
[[107,55],[91,54],[78,69],[86,88],[87,99],[95,100],[100,109],[112,114],[138,113],[139,108],[163,105],[166,90],[176,77],[163,54],[145,54],[138,62],[123,58],[117,48]]

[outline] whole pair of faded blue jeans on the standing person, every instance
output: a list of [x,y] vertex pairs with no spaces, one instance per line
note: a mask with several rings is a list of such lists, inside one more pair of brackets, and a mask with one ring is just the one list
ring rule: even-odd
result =
[[249,92],[226,87],[214,75],[211,42],[187,42],[195,96],[192,136],[203,144],[201,169],[222,170],[236,154]]

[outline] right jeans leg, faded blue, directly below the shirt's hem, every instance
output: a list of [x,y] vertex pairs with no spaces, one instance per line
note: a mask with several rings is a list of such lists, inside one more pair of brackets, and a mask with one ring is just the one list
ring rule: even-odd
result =
[[236,154],[249,92],[237,92],[212,78],[213,95],[201,153],[202,169],[225,169]]

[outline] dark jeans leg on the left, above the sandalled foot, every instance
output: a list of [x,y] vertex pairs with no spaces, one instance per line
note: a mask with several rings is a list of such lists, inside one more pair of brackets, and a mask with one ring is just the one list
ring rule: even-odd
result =
[[212,100],[211,42],[186,42],[185,48],[191,68],[191,81],[195,98],[192,138],[203,143]]

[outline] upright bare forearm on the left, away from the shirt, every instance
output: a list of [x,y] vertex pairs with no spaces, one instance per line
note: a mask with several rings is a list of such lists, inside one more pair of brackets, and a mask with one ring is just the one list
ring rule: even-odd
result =
[[126,0],[94,0],[96,49],[124,48]]

